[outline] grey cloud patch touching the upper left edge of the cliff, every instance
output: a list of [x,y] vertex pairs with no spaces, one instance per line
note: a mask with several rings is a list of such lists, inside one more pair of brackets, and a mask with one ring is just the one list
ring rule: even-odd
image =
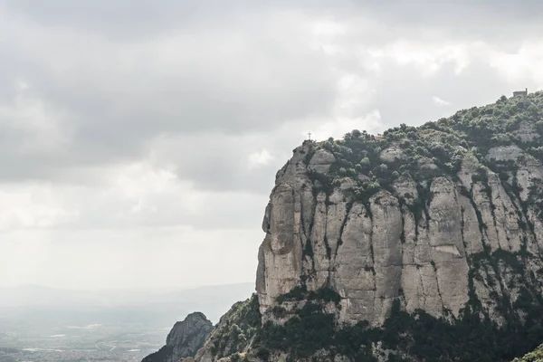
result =
[[[193,180],[199,189],[267,195],[274,185],[275,172],[302,139],[300,131],[252,133],[244,137],[214,133],[202,138],[162,138],[152,148],[153,160],[157,164],[171,162],[181,179]],[[262,149],[271,152],[270,162],[251,167],[250,155]]]

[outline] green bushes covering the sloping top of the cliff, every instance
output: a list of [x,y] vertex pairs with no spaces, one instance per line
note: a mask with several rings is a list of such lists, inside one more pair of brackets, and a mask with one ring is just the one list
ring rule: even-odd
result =
[[[533,133],[531,139],[530,133]],[[329,195],[333,186],[349,177],[357,181],[357,200],[367,203],[379,190],[393,192],[393,181],[404,174],[418,183],[443,175],[455,178],[467,153],[478,157],[493,171],[503,172],[501,176],[509,176],[510,163],[485,161],[489,149],[514,143],[532,157],[543,160],[542,140],[543,92],[536,92],[526,98],[501,97],[490,105],[460,110],[450,118],[418,128],[402,124],[386,130],[382,136],[355,129],[343,139],[306,141],[311,146],[306,163],[317,149],[327,149],[336,157],[336,162],[328,175],[310,173],[314,181],[319,181],[315,183],[314,192],[324,191]],[[390,149],[394,160],[382,161],[381,152]],[[479,176],[477,180],[484,181],[484,170]]]

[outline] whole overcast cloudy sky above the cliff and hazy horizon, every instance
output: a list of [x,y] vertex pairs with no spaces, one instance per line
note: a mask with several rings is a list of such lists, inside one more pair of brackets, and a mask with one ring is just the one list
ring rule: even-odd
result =
[[542,15],[538,0],[0,0],[0,287],[254,281],[275,173],[308,132],[540,90]]

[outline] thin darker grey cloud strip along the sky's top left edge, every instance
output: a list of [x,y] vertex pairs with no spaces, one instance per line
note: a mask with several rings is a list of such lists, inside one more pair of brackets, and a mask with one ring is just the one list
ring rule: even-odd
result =
[[[348,5],[340,0],[331,4],[326,0],[280,0],[275,2],[252,0],[106,0],[78,1],[3,0],[9,11],[46,26],[84,29],[105,33],[115,39],[137,37],[139,40],[169,31],[195,27],[230,27],[254,13],[303,10],[323,13]],[[226,24],[224,24],[226,20]]]

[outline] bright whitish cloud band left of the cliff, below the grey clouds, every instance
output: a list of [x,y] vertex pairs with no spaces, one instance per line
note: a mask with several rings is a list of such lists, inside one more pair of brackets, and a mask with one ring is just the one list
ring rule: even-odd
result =
[[224,230],[262,221],[266,195],[197,189],[172,170],[147,162],[101,171],[100,185],[4,184],[0,232],[177,226]]

